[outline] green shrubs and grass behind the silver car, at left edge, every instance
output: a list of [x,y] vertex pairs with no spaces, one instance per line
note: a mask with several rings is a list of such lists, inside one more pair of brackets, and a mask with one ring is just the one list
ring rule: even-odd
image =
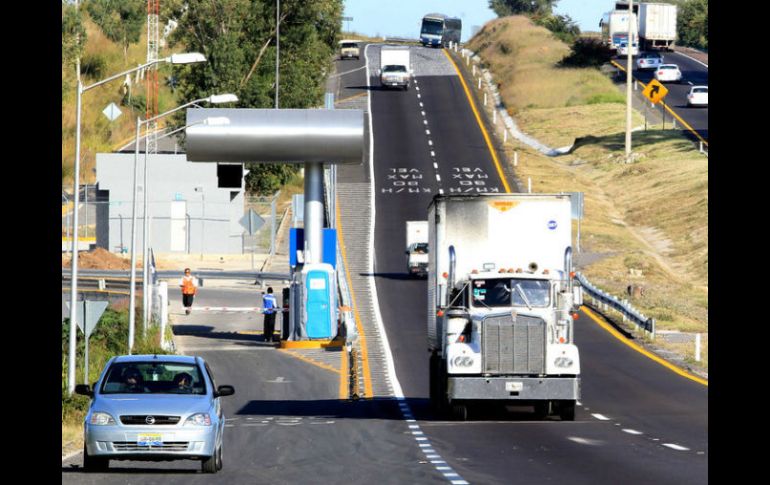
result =
[[[141,311],[137,311],[134,354],[167,354],[159,342],[159,327],[152,326],[142,337]],[[62,324],[62,453],[83,448],[83,419],[90,399],[86,396],[67,395],[67,370],[69,365],[69,319]],[[166,338],[170,338],[170,326]],[[76,383],[83,383],[85,341],[78,332],[76,357]],[[128,353],[128,307],[126,304],[108,307],[88,339],[88,384],[93,384],[107,361],[115,355]]]

